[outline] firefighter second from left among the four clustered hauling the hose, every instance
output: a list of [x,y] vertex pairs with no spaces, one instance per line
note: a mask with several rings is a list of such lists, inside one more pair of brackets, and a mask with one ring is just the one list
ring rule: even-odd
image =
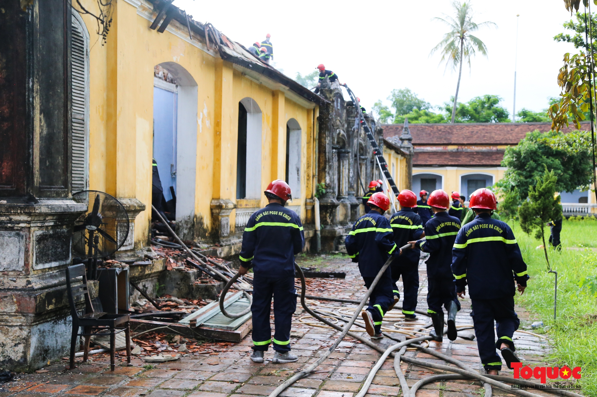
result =
[[[413,191],[402,190],[398,194],[398,201],[401,208],[394,215],[390,216],[390,226],[394,231],[394,243],[398,247],[403,247],[408,241],[421,238],[421,235],[423,235],[423,225],[421,224],[421,217],[413,210],[417,207],[417,196]],[[400,299],[396,283],[398,283],[398,279],[402,275],[402,289],[404,291],[402,314],[404,314],[404,320],[407,321],[417,320],[414,311],[417,308],[418,259],[420,256],[421,252],[418,249],[405,250],[390,265],[395,304]]]

